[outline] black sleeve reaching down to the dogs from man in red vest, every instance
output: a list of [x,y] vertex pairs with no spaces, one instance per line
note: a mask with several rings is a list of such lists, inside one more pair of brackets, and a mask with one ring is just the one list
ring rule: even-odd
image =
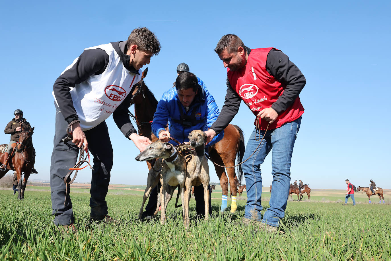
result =
[[225,95],[224,105],[222,106],[219,117],[217,117],[216,121],[210,127],[216,132],[216,134],[219,134],[228,126],[228,124],[230,124],[233,117],[235,117],[236,113],[239,111],[241,101],[242,99],[232,89],[230,81],[227,77],[227,94]]

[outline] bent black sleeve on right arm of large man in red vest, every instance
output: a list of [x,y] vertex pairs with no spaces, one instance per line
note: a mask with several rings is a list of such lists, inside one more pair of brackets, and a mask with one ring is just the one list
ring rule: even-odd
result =
[[281,114],[292,105],[303,90],[306,83],[305,77],[286,54],[276,49],[271,49],[267,54],[266,70],[286,86],[283,94],[271,106],[273,110]]

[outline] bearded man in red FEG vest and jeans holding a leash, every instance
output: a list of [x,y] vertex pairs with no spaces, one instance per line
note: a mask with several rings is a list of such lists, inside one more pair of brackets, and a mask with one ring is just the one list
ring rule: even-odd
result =
[[[255,128],[249,138],[244,154],[244,159],[249,160],[242,165],[248,196],[244,223],[257,223],[260,230],[277,231],[287,206],[292,151],[304,112],[299,94],[305,77],[280,50],[249,49],[235,34],[224,35],[215,52],[228,67],[228,88],[219,117],[205,133],[209,141],[222,131],[238,112],[242,100],[257,116],[255,124],[258,120],[259,129]],[[258,147],[259,135],[265,138]],[[273,190],[270,208],[262,218],[260,165],[272,148]]]

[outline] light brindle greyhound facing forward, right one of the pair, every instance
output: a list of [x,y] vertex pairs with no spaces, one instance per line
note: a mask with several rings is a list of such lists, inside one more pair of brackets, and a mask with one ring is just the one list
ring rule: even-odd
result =
[[204,187],[204,202],[205,202],[205,220],[208,220],[209,215],[209,166],[204,154],[206,134],[201,130],[194,130],[188,135],[190,146],[195,149],[195,155],[192,155],[191,160],[187,163],[184,198],[182,204],[185,209],[185,226],[189,225],[189,201],[191,187],[203,185]]

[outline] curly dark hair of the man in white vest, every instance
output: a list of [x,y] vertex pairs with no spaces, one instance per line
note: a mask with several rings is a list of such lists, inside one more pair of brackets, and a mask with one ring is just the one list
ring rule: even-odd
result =
[[138,27],[131,32],[127,38],[127,49],[134,44],[137,45],[137,49],[152,52],[155,55],[159,54],[161,48],[159,39],[146,27]]

